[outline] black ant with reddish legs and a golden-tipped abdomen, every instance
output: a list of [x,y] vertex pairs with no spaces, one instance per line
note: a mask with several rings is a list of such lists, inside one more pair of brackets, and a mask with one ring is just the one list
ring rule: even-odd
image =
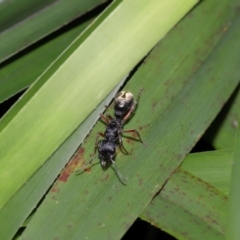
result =
[[[98,149],[98,157],[100,159],[100,164],[103,170],[107,170],[111,165],[115,170],[118,178],[123,184],[126,184],[126,180],[121,175],[114,158],[116,156],[116,147],[119,146],[121,151],[124,154],[129,154],[129,152],[125,149],[122,142],[122,133],[136,133],[140,142],[143,143],[139,132],[136,129],[123,130],[123,125],[126,121],[131,117],[133,111],[136,108],[136,105],[139,101],[140,95],[142,93],[142,88],[138,93],[136,101],[134,100],[134,96],[129,91],[121,91],[114,98],[114,118],[106,114],[100,114],[101,120],[106,124],[106,130],[104,133],[98,132],[97,138],[95,141],[94,154]],[[99,137],[103,137],[103,140],[99,140]],[[92,164],[92,160],[85,164],[84,168],[87,165],[95,165]],[[76,171],[76,174],[81,173],[82,168]]]

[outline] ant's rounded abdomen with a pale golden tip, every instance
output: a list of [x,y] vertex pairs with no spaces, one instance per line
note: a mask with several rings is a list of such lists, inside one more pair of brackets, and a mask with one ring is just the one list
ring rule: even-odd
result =
[[134,102],[134,97],[131,92],[121,91],[114,99],[114,110],[115,117],[118,119],[123,119],[128,113]]

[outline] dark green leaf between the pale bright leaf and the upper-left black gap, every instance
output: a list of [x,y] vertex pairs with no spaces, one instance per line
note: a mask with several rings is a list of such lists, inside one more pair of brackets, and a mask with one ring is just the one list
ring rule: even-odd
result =
[[[0,71],[0,102],[29,87],[71,42],[89,25],[90,21],[72,27],[46,43],[2,64]],[[69,27],[69,26],[68,26]]]

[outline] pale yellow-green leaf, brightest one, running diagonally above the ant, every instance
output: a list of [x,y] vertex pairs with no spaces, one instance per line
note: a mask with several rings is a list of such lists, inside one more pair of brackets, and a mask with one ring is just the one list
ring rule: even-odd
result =
[[115,1],[54,62],[0,123],[1,208],[195,3]]

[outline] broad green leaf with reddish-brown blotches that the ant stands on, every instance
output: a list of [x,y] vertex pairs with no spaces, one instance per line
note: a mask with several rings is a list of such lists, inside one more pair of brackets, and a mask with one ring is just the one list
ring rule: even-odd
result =
[[[192,19],[186,19],[184,25],[194,25]],[[189,39],[193,37],[190,48],[177,38],[185,36],[178,27],[160,42],[126,85],[134,94],[139,87],[144,89],[137,111],[125,129],[138,127],[145,142],[143,146],[127,140],[131,155],[117,155],[118,167],[128,178],[127,186],[121,184],[113,170],[103,172],[99,166],[80,176],[73,173],[78,162],[80,167],[91,159],[96,134],[104,130],[103,124],[98,123],[61,173],[23,239],[36,238],[42,231],[46,238],[120,238],[213,121],[222,107],[219,103],[229,98],[239,82],[239,25],[229,28],[210,54],[209,44],[204,48],[208,51],[196,54],[202,44],[194,37],[207,39],[212,32],[187,35]],[[186,31],[191,32],[189,28]],[[217,40],[214,38],[213,45]],[[192,66],[200,68],[189,73]],[[222,233],[224,219],[222,214],[220,217],[221,226],[216,228]]]

